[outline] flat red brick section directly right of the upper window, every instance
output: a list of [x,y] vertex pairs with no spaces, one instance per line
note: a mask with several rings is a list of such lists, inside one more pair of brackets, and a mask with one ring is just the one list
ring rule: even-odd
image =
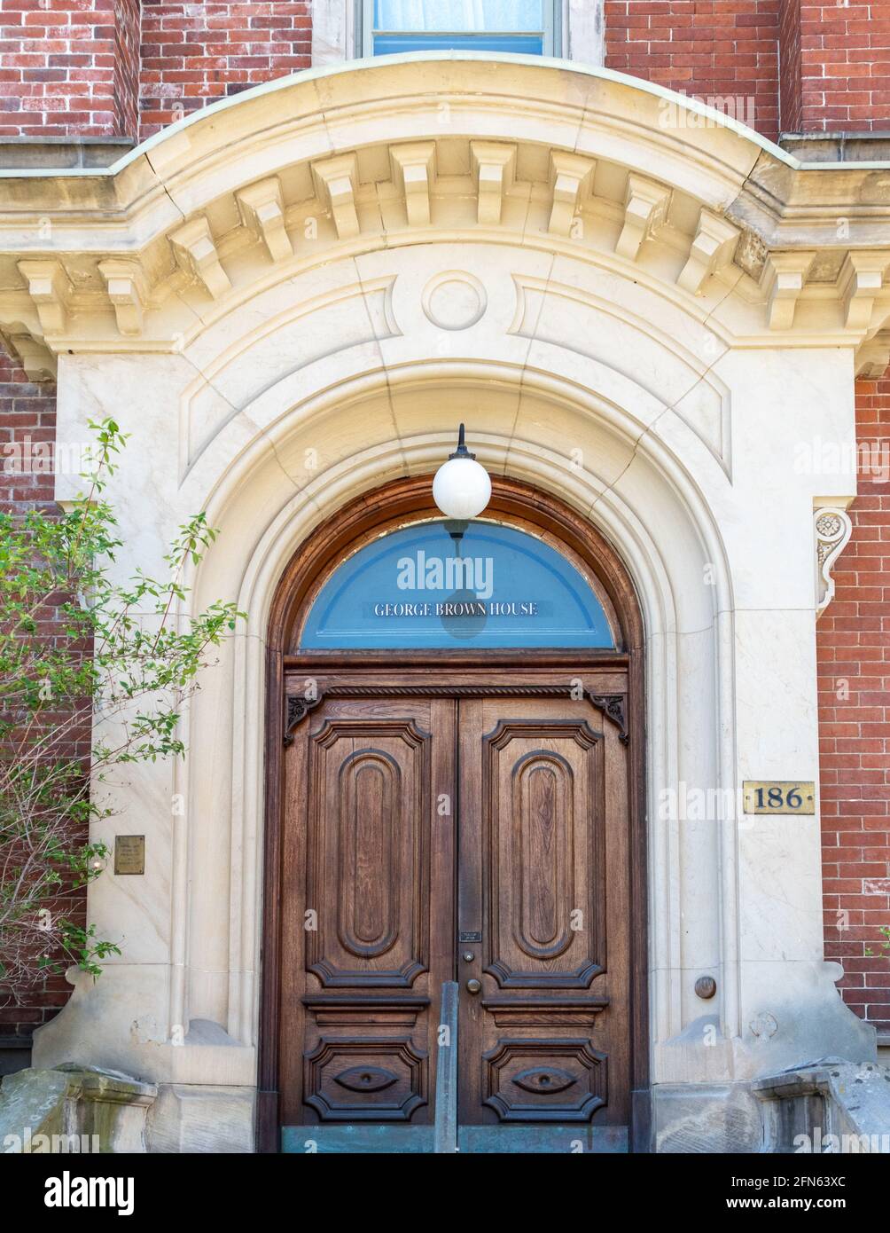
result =
[[774,139],[779,4],[605,0],[605,65],[712,102]]

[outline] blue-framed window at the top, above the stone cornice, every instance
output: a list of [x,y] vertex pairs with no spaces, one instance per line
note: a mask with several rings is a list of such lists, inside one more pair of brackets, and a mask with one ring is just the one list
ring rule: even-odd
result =
[[553,55],[560,0],[364,0],[362,54],[520,52]]

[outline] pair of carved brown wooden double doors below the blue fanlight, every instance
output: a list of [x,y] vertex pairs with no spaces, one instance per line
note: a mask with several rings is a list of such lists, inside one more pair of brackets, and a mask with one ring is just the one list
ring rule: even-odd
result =
[[[457,1053],[461,1150],[626,1149],[625,723],[624,693],[521,668],[396,687],[319,677],[293,699],[287,1149],[431,1150],[443,1048]],[[440,1005],[451,980],[456,1042]]]

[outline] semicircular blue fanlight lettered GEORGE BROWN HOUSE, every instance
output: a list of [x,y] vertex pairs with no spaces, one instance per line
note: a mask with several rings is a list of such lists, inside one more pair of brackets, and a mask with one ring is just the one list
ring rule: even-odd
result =
[[605,603],[562,552],[515,526],[415,523],[338,566],[300,646],[614,649]]

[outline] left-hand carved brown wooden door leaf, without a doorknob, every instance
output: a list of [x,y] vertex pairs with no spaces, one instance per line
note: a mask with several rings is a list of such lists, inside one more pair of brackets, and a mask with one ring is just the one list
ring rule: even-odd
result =
[[288,751],[282,1120],[431,1121],[454,964],[455,703],[332,699]]

